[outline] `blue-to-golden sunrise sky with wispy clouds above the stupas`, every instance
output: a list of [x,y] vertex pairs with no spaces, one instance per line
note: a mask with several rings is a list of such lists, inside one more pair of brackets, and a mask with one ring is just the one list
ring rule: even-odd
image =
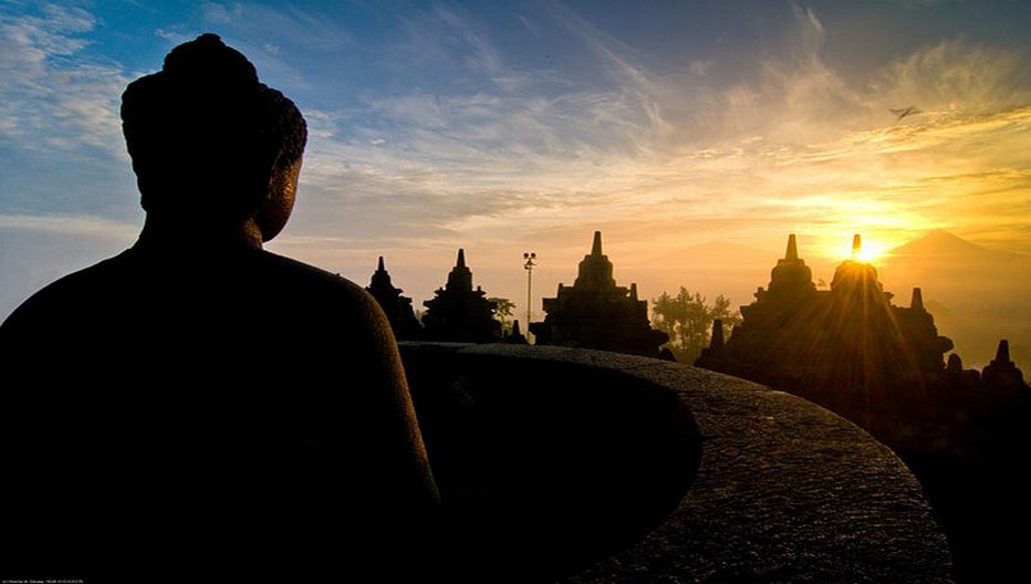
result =
[[827,261],[939,228],[1031,253],[1029,29],[1023,1],[7,1],[0,317],[132,243],[119,95],[201,32],[310,125],[271,250],[363,284],[385,255],[419,305],[465,248],[522,313],[522,253],[553,295],[594,230],[643,298],[711,241],[769,252],[752,289],[792,232]]

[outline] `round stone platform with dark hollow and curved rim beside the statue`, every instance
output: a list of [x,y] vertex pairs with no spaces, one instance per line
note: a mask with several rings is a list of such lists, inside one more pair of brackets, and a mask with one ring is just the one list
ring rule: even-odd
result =
[[[402,343],[402,355],[440,463],[447,553],[469,581],[952,582],[919,482],[810,401],[601,351]],[[479,424],[491,400],[512,416]],[[480,468],[456,470],[470,460]]]

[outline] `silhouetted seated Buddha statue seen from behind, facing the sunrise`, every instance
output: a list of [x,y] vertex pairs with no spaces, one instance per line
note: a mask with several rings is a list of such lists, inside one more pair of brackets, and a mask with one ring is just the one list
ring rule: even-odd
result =
[[205,34],[122,117],[138,241],[0,327],[4,575],[421,571],[438,497],[387,321],[261,249],[294,202],[301,113]]

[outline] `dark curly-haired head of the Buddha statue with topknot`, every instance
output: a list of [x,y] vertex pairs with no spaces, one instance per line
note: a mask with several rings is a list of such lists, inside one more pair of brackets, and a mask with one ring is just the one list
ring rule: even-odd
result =
[[263,241],[285,225],[304,118],[217,35],[180,44],[162,71],[131,83],[122,122],[148,218],[205,226],[253,219]]

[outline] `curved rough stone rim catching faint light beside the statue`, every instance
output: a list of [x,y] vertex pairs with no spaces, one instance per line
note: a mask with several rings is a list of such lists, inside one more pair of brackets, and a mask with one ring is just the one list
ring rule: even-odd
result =
[[512,359],[589,364],[675,390],[705,437],[679,508],[637,544],[562,582],[951,582],[919,482],[852,423],[736,377],[600,351],[465,345]]

